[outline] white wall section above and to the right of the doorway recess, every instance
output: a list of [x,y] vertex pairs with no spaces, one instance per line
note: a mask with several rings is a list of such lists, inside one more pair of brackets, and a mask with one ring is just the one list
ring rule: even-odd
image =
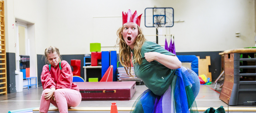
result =
[[[35,41],[37,50],[43,50],[47,43],[47,0],[14,0],[14,15],[30,23],[35,23]],[[42,54],[42,53],[36,53]]]

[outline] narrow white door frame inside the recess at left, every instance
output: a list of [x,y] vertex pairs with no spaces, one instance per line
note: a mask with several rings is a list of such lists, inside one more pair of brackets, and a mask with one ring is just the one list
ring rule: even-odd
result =
[[19,52],[19,27],[18,26],[22,26],[25,27],[25,53],[26,55],[29,55],[29,40],[28,40],[28,35],[27,35],[27,25],[24,24],[20,24],[20,23],[16,23],[16,46],[15,46],[15,50],[16,50],[16,70],[20,71],[20,52]]

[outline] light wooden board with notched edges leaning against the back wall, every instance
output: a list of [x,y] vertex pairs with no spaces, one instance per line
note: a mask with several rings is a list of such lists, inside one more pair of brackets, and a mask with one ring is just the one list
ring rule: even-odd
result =
[[210,78],[210,81],[212,81],[212,73],[209,72],[209,65],[211,65],[210,56],[206,56],[206,59],[200,59],[198,58],[198,75],[205,75],[207,78]]

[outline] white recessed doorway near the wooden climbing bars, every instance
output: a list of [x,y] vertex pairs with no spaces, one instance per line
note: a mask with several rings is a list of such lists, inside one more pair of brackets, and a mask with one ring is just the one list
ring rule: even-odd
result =
[[[30,67],[29,75],[30,77],[37,77],[35,23],[19,18],[15,18],[15,21],[16,70],[20,71],[20,55],[28,55],[30,58],[28,64]],[[26,81],[27,80],[23,81],[23,85],[28,84]],[[31,79],[31,84],[36,83],[37,79]]]

